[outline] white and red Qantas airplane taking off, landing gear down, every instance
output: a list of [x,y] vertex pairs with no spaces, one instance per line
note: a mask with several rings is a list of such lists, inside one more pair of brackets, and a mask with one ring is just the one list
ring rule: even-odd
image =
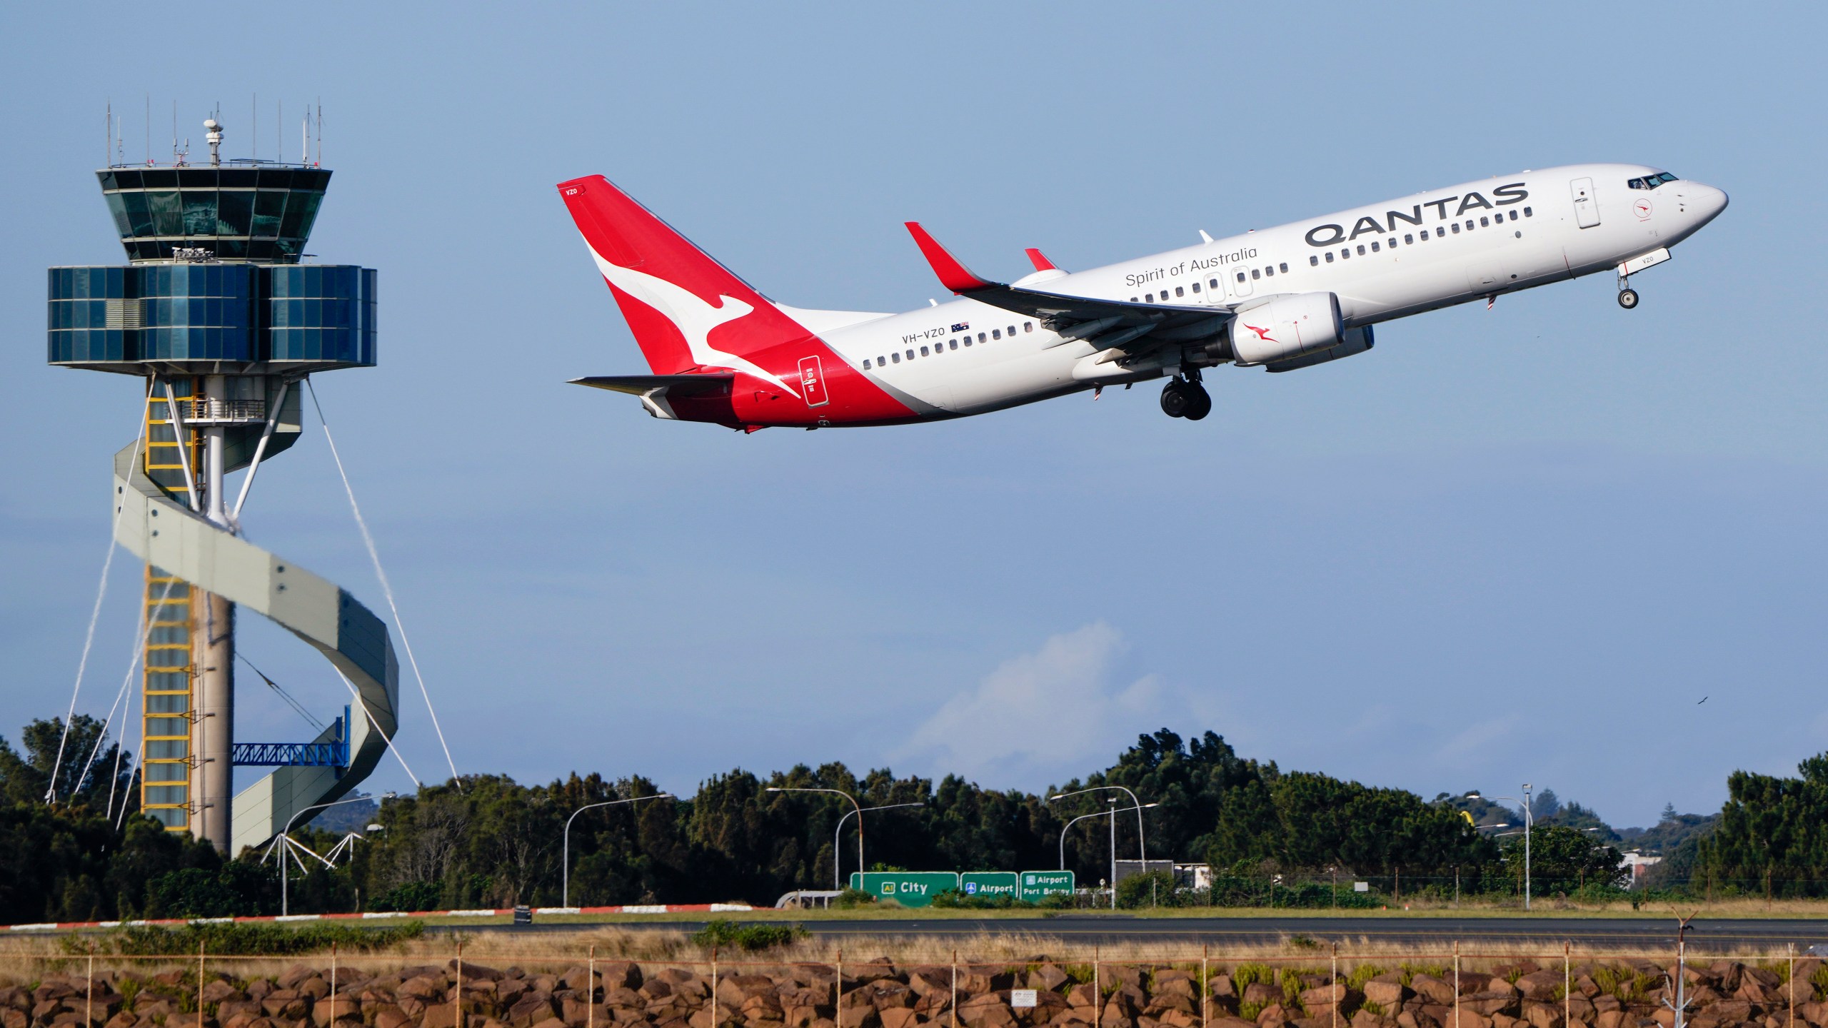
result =
[[1208,368],[1294,371],[1371,349],[1373,326],[1581,274],[1632,274],[1718,216],[1726,192],[1643,165],[1570,165],[1419,192],[1089,271],[1029,249],[991,282],[916,221],[960,298],[905,315],[777,304],[603,176],[559,196],[651,375],[574,379],[653,417],[755,432],[909,424],[1168,379],[1161,410],[1212,412]]

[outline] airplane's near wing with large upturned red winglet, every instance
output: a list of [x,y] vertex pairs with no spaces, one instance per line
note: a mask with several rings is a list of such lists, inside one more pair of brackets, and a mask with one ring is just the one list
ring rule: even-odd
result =
[[[1141,351],[1168,340],[1192,340],[1223,331],[1230,305],[1181,307],[1174,304],[1132,304],[1071,296],[1042,289],[1024,289],[972,274],[940,245],[919,221],[907,223],[921,256],[932,265],[940,284],[960,296],[1042,320],[1049,329],[1086,338],[1100,349]],[[1077,335],[1086,329],[1086,335]]]

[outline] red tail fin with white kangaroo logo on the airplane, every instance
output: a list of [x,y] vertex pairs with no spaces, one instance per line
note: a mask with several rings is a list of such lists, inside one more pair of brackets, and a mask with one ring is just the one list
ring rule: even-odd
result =
[[781,382],[748,357],[812,335],[799,322],[603,176],[559,183],[559,196],[656,375],[731,369]]

